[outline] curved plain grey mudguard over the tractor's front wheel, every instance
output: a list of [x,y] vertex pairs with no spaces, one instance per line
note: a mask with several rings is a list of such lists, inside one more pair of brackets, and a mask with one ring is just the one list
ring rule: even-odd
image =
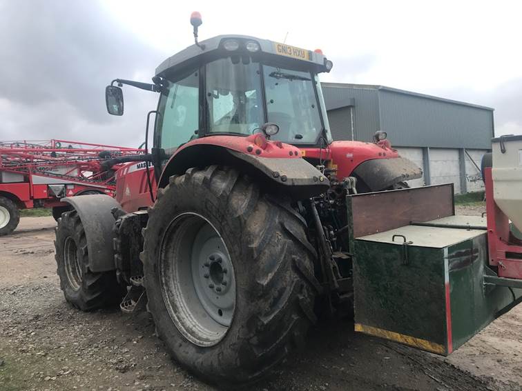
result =
[[98,273],[115,270],[113,250],[115,219],[110,211],[113,208],[120,208],[119,203],[106,194],[67,197],[62,201],[75,208],[84,225],[90,271]]

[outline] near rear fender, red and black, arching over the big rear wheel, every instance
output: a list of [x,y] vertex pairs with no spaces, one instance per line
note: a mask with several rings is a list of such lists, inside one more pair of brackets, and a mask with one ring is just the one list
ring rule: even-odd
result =
[[[231,139],[231,142],[226,139]],[[197,141],[178,149],[166,163],[158,181],[160,188],[168,185],[172,175],[213,164],[238,168],[258,179],[262,188],[284,192],[293,199],[307,199],[329,188],[328,179],[302,159],[294,146],[268,141],[266,148],[262,149],[255,146],[252,137],[237,136],[213,136]]]

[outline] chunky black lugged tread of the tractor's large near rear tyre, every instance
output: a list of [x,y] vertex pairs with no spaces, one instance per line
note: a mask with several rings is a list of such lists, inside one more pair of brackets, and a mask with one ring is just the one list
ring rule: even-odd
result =
[[[224,369],[219,364],[218,371],[213,366],[216,363],[204,360],[184,362],[176,354],[179,346],[175,341],[169,341],[162,327],[157,327],[157,335],[178,361],[211,382],[254,381],[284,359],[296,341],[302,341],[309,327],[317,321],[313,302],[320,285],[311,271],[316,252],[307,240],[305,219],[291,207],[288,199],[262,192],[247,175],[230,167],[191,168],[185,174],[171,177],[163,190],[164,197],[151,208],[148,223],[153,224],[153,217],[160,219],[165,214],[162,208],[168,208],[179,194],[195,194],[198,188],[202,188],[199,194],[212,194],[220,205],[224,205],[227,213],[231,212],[231,216],[240,221],[240,245],[252,255],[252,286],[255,288],[249,294],[256,299],[251,304],[249,319],[241,321],[244,327],[235,337],[234,348],[240,355],[236,361],[242,364],[242,369],[231,370],[224,377]],[[167,197],[166,194],[172,195]],[[198,202],[205,201],[200,199]],[[145,266],[147,263],[154,265],[154,272],[155,260],[149,251],[153,253],[157,248],[162,229],[144,230],[144,250],[140,258]],[[294,259],[300,259],[299,267]],[[153,279],[146,278],[146,290],[149,291],[154,283]],[[156,324],[155,318],[159,315],[155,311],[161,305],[148,303]],[[245,367],[251,369],[245,372]]]

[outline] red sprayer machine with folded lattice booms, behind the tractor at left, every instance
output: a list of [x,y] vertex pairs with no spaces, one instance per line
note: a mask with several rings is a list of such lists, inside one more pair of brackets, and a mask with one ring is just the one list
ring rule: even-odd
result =
[[64,197],[112,197],[115,170],[142,152],[57,139],[0,141],[0,236],[17,228],[21,209],[52,208],[57,219],[69,209]]

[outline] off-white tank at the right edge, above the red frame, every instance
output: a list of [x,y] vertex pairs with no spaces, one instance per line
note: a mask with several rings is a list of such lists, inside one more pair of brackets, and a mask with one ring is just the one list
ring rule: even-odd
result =
[[494,200],[522,230],[522,135],[492,140]]

